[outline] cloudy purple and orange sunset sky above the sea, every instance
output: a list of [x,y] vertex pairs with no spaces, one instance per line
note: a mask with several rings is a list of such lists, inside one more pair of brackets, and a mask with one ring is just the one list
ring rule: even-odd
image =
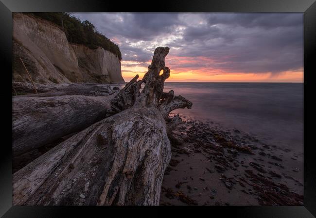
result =
[[168,82],[303,82],[302,13],[73,13],[119,45],[126,82],[168,46]]

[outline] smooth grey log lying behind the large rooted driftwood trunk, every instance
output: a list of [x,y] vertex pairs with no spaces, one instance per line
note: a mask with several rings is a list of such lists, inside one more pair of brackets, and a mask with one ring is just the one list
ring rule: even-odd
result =
[[105,118],[113,95],[13,97],[13,156],[83,130]]

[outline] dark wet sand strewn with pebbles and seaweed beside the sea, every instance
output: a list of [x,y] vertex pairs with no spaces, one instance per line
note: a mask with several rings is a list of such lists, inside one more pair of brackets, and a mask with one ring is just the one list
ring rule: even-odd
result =
[[303,154],[181,116],[160,205],[302,205]]

